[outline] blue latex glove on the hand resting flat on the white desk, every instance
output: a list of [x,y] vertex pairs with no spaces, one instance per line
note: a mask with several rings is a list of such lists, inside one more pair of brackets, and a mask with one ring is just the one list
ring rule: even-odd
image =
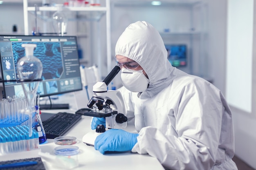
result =
[[110,129],[95,139],[94,148],[102,154],[106,151],[129,151],[137,143],[137,136],[139,134],[126,132],[122,129]]

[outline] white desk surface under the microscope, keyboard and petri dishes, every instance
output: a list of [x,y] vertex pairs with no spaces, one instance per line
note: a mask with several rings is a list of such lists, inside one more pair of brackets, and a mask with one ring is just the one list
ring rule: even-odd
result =
[[[60,99],[58,99],[58,101],[53,101],[53,103],[69,103],[70,109],[41,110],[42,114],[58,112],[75,113],[76,110],[86,107],[88,100],[86,101],[84,96],[85,93],[81,93],[81,91],[63,95],[60,97]],[[42,103],[44,104],[44,102]],[[93,146],[84,144],[82,141],[83,136],[92,131],[90,127],[91,119],[92,117],[83,115],[81,120],[79,120],[70,130],[64,134],[64,136],[76,137],[77,142],[72,146],[79,147],[79,153],[77,155],[79,166],[72,168],[72,170],[164,170],[161,163],[159,163],[156,158],[151,157],[150,155],[140,155],[130,151],[109,152],[103,155],[98,150],[95,150]],[[124,130],[128,132],[136,132],[134,121],[128,122],[128,126]],[[54,139],[47,139],[45,143],[40,144],[40,152],[48,152],[51,155],[55,155],[54,148],[58,146],[60,145],[55,144]],[[20,159],[19,155],[22,155],[23,153],[24,155],[30,154],[29,152],[22,152],[20,154],[10,155],[10,157],[13,160]],[[36,155],[37,154],[38,153],[36,152]],[[63,170],[63,168],[54,166],[53,163],[47,161],[43,157],[42,161],[46,170]]]

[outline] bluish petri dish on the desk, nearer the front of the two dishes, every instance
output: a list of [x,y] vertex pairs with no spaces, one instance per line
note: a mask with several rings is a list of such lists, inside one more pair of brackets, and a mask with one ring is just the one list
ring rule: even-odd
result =
[[60,156],[72,156],[77,155],[79,152],[79,147],[77,146],[58,146],[54,148],[55,155]]

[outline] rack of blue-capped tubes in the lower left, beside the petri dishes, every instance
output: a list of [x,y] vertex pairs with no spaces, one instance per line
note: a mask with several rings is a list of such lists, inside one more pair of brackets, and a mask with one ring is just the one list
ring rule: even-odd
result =
[[0,128],[0,154],[36,150],[39,148],[38,132],[32,130],[29,137],[28,126]]

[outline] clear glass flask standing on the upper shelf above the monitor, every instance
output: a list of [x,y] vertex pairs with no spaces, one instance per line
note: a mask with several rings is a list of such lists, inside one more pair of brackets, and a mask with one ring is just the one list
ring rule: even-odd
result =
[[67,31],[67,17],[62,11],[63,4],[56,4],[57,11],[52,15],[55,32],[64,36]]

